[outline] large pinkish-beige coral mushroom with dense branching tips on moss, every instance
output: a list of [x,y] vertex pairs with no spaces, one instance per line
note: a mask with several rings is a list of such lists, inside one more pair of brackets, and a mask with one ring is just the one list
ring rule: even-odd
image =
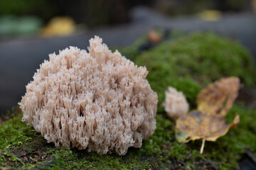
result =
[[97,36],[88,49],[49,55],[19,103],[23,121],[56,147],[124,155],[154,133],[157,95],[146,67],[112,53]]

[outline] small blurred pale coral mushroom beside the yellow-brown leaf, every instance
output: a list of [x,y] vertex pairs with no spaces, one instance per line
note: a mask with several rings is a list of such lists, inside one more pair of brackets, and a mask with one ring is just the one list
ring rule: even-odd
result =
[[164,109],[169,118],[176,120],[181,115],[188,113],[188,102],[182,92],[178,92],[174,87],[169,87],[165,92]]

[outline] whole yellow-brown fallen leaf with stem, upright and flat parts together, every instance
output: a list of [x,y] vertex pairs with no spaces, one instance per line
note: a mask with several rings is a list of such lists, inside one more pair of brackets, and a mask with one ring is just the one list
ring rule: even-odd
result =
[[239,89],[240,80],[237,77],[220,79],[203,89],[197,96],[198,109],[176,120],[176,140],[188,142],[202,139],[203,153],[206,140],[214,142],[239,123],[239,115],[235,115],[230,125],[225,121]]

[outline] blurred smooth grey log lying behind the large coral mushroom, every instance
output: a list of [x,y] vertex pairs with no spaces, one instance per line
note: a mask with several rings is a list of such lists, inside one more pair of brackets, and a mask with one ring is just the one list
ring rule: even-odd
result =
[[132,23],[112,28],[98,28],[80,35],[62,38],[19,38],[0,42],[0,113],[6,112],[21,100],[25,86],[32,80],[48,54],[65,47],[87,48],[88,40],[99,35],[109,47],[132,44],[152,28],[183,30],[214,30],[247,46],[256,56],[256,16],[253,13],[226,14],[220,21],[207,22],[200,18],[165,18],[149,8],[138,7],[131,13]]

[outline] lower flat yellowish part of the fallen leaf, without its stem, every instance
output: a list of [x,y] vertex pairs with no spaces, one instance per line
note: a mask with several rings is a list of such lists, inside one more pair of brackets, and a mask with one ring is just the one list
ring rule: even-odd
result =
[[178,142],[205,139],[214,142],[225,135],[229,128],[238,124],[239,115],[228,125],[225,118],[206,115],[201,111],[193,111],[176,120],[176,139]]

